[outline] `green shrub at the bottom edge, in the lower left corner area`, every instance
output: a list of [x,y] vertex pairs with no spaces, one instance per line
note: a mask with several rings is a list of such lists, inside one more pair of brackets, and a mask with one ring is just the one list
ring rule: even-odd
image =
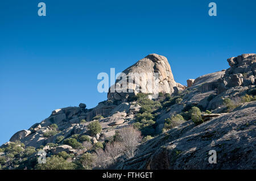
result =
[[52,155],[46,159],[46,163],[36,165],[38,170],[74,170],[76,165],[66,161],[63,157]]

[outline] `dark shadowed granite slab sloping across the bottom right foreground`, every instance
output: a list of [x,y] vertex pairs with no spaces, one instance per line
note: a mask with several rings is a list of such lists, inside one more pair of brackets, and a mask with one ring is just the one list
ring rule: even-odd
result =
[[[187,121],[139,146],[117,169],[256,169],[253,105],[198,126]],[[217,151],[217,164],[208,162],[210,150]]]

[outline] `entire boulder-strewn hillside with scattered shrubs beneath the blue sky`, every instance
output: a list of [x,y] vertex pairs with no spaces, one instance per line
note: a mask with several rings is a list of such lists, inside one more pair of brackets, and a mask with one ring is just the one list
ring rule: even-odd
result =
[[[228,63],[229,69],[183,86],[175,82],[166,57],[150,54],[123,73],[159,73],[157,98],[133,82],[132,94],[110,87],[108,99],[92,109],[81,103],[52,111],[0,147],[1,168],[255,169],[256,54]],[[38,163],[42,150],[46,164]],[[217,151],[217,164],[208,162],[209,150]]]

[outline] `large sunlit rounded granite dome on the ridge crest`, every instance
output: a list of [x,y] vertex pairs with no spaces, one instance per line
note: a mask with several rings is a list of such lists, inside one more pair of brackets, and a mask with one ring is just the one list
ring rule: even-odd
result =
[[[122,73],[115,85],[110,87],[108,99],[127,100],[138,92],[172,94],[185,89],[185,86],[175,82],[167,58],[158,54],[149,54]],[[158,73],[159,79],[155,77],[155,73]]]

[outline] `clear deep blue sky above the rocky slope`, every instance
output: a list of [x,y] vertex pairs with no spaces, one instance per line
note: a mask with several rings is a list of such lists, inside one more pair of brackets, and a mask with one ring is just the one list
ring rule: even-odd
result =
[[1,1],[0,144],[57,108],[97,106],[106,99],[97,74],[147,54],[166,56],[186,85],[228,68],[229,57],[256,53],[255,7],[255,0]]

